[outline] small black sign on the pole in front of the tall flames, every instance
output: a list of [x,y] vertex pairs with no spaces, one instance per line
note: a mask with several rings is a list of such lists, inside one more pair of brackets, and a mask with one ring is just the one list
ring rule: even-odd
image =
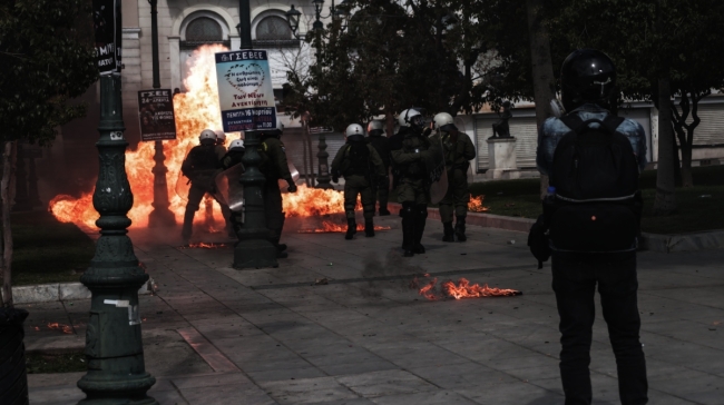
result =
[[138,91],[140,140],[176,139],[176,119],[172,91],[154,89]]

